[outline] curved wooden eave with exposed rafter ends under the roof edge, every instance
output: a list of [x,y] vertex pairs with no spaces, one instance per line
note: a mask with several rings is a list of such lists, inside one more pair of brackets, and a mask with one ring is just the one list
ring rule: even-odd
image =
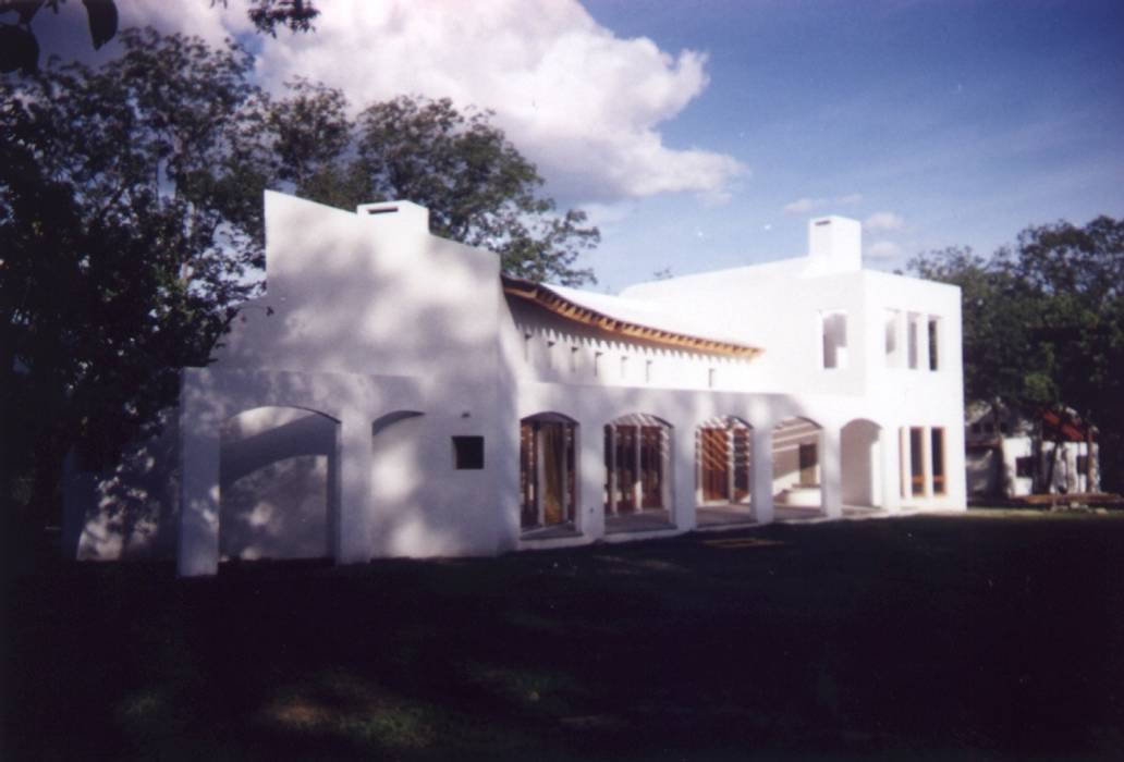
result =
[[544,288],[538,283],[532,283],[531,281],[511,278],[510,275],[500,275],[500,280],[504,284],[504,293],[508,296],[538,305],[566,320],[591,326],[609,334],[678,346],[692,352],[738,357],[741,360],[749,360],[761,353],[759,347],[747,344],[735,344],[734,342],[690,336],[688,334],[652,328],[638,323],[610,317],[588,307],[577,305],[569,299],[560,297],[549,288]]

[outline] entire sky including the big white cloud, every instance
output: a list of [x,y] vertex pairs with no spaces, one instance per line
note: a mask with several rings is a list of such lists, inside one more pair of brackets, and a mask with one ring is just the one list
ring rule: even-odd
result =
[[[71,8],[70,6],[74,6]],[[123,25],[251,40],[278,90],[495,110],[547,191],[587,208],[599,290],[803,254],[863,220],[868,265],[990,253],[1032,224],[1124,217],[1124,2],[321,0],[312,35],[245,3],[118,0]],[[76,2],[37,19],[89,51]]]

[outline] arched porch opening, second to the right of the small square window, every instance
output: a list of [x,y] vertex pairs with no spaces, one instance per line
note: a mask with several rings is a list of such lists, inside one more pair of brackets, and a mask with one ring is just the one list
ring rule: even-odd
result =
[[671,425],[636,412],[605,426],[605,530],[671,525]]

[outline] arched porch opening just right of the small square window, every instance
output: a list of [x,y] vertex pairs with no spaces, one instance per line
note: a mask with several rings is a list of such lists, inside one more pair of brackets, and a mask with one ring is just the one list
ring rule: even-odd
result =
[[519,421],[519,527],[524,535],[574,529],[577,442],[577,421],[559,412]]

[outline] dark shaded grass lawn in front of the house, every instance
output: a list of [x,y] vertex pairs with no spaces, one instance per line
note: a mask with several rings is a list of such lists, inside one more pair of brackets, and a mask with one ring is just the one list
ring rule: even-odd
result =
[[4,760],[1124,758],[1121,514],[48,565],[6,609]]

